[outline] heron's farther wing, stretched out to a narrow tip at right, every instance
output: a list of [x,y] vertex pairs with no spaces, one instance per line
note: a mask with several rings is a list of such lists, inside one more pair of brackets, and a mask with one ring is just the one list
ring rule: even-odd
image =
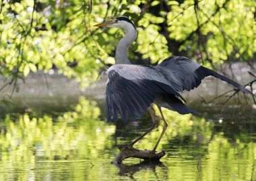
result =
[[197,62],[183,56],[171,56],[170,58],[166,58],[166,60],[162,61],[155,68],[162,72],[166,80],[168,80],[170,84],[180,92],[184,90],[190,91],[191,89],[199,86],[199,84],[201,84],[201,80],[205,78],[205,76],[211,75],[228,82],[228,84],[236,86],[240,91],[252,94],[237,82],[214,72],[214,70],[200,66]]

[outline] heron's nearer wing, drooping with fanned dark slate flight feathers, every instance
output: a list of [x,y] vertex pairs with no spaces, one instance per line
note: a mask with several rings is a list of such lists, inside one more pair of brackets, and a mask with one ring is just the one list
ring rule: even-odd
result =
[[127,120],[128,116],[133,119],[141,117],[158,94],[183,99],[172,84],[154,68],[116,64],[108,68],[107,72],[106,118],[108,121],[112,117],[117,121],[119,113],[123,121]]

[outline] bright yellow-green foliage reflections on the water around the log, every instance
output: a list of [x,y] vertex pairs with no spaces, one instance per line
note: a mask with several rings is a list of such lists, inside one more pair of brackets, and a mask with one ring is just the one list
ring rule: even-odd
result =
[[[9,114],[0,122],[0,180],[256,180],[256,125],[218,123],[164,111],[169,123],[160,163],[110,161],[152,122],[106,123],[94,101],[53,115]],[[211,119],[212,120],[212,119]],[[152,149],[162,125],[136,147]]]

